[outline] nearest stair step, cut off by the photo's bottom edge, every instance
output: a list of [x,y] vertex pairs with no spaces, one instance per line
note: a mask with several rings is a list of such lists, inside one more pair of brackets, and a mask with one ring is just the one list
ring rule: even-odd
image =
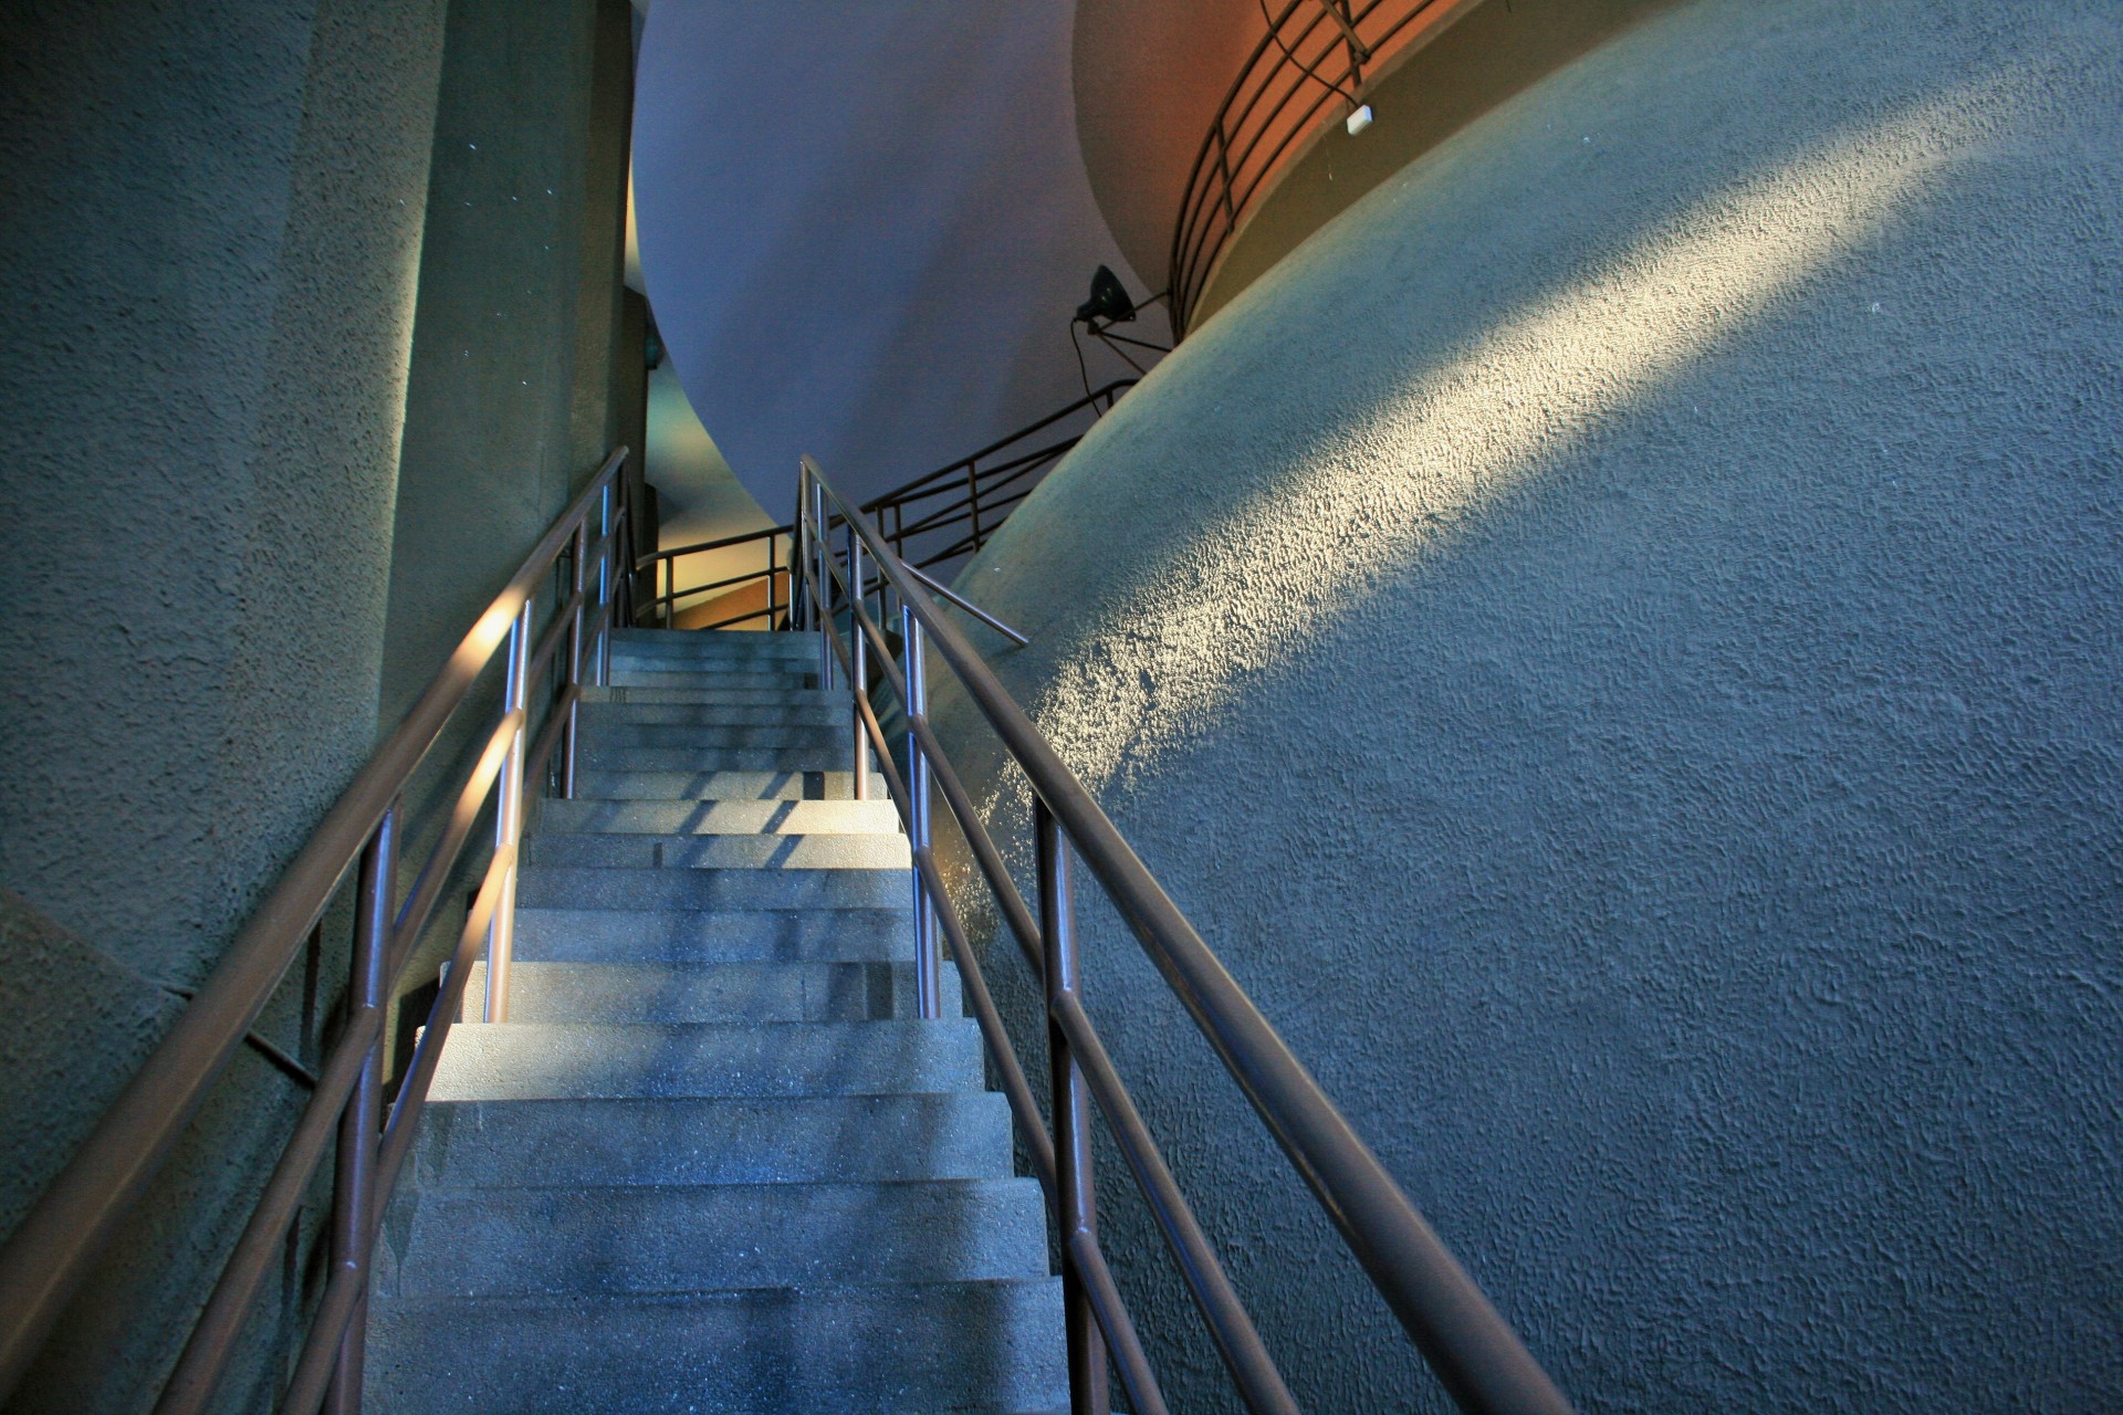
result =
[[391,1415],[913,1415],[1068,1407],[1059,1279],[380,1298]]

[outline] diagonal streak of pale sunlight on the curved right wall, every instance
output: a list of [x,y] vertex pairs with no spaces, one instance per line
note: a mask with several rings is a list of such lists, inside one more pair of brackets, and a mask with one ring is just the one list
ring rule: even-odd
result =
[[1098,660],[1057,666],[1040,728],[1093,789],[1212,728],[1246,675],[1866,242],[2023,112],[2025,83],[1953,91],[1745,180],[1380,399],[1132,586],[1125,622],[1085,626]]

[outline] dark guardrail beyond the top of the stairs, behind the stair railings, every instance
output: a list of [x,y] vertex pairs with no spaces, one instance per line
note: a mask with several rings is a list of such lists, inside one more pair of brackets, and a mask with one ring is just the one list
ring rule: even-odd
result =
[[[945,462],[936,471],[926,471],[883,496],[862,503],[862,509],[883,526],[883,537],[892,543],[896,556],[907,560],[909,545],[915,547],[911,560],[915,569],[934,569],[960,556],[970,556],[987,545],[1004,518],[1040,484],[1040,477],[1083,439],[1083,429],[1066,431],[1066,424],[1085,414],[1095,422],[1100,416],[1112,412],[1121,395],[1134,386],[1134,378],[1121,378],[1104,388],[1093,388],[1038,422],[987,443],[979,452]],[[726,613],[709,624],[690,624],[688,628],[737,628],[756,619],[764,619],[762,628],[773,628],[788,613],[790,543],[794,535],[796,526],[769,526],[696,545],[658,549],[654,556],[643,558],[637,569],[648,575],[645,622],[675,628],[681,602],[696,598],[713,602],[713,596],[735,596],[764,579],[766,594],[758,609],[737,607],[735,613]],[[760,569],[724,575],[722,579],[684,590],[677,588],[679,560],[713,552],[735,552],[745,545],[760,547],[764,558]]]

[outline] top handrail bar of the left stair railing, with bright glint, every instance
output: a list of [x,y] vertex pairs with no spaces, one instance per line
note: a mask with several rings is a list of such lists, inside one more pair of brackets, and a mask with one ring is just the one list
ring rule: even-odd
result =
[[435,745],[594,496],[626,458],[616,450],[524,558],[412,711],[325,813],[251,921],[96,1131],[0,1250],[0,1404],[13,1396],[89,1264],[161,1169],[384,810]]

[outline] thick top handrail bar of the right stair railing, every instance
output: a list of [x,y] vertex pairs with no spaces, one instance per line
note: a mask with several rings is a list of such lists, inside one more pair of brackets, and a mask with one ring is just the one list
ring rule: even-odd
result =
[[898,558],[866,518],[851,516],[817,462],[805,475],[877,556],[900,602],[911,607],[974,706],[1017,757],[1032,789],[1055,813],[1078,857],[1100,880],[1195,1027],[1282,1146],[1314,1199],[1342,1230],[1371,1286],[1469,1411],[1563,1415],[1571,1407],[1503,1322],[1459,1260],[1357,1137],[1304,1063],[1276,1035],[1238,980],[1178,910],[1098,800],[1076,781],[1032,719],[1002,687],[928,592],[900,573]]

